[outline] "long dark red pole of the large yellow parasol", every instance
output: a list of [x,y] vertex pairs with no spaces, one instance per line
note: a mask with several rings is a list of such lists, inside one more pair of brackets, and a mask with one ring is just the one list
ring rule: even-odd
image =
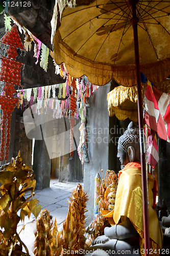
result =
[[144,228],[144,255],[150,254],[150,235],[149,235],[149,215],[148,215],[148,191],[147,191],[147,174],[145,165],[145,148],[144,148],[144,129],[143,129],[143,109],[141,95],[141,79],[140,79],[140,62],[139,62],[139,44],[136,16],[136,3],[138,0],[130,1],[132,5],[132,26],[135,48],[135,64],[136,64],[136,81],[137,81],[137,105],[138,105],[138,122],[139,122],[139,138],[140,138],[140,160],[141,160],[141,179],[142,179],[142,199],[143,199],[143,228]]

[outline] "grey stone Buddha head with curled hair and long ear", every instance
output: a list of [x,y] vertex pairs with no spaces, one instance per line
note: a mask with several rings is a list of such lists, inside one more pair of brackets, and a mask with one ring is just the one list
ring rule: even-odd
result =
[[137,127],[133,122],[130,122],[124,135],[118,139],[117,157],[121,165],[140,161],[139,135]]

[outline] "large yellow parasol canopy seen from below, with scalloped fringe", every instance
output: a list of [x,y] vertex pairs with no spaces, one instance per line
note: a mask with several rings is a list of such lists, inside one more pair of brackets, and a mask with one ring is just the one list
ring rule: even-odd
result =
[[[158,82],[170,74],[170,3],[139,0],[136,8],[141,72]],[[65,62],[71,76],[85,74],[99,86],[112,78],[126,87],[136,84],[129,1],[66,7],[53,42],[56,62]]]

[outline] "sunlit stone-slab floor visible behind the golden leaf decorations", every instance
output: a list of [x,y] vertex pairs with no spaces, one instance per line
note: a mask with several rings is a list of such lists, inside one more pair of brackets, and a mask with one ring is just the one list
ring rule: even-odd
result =
[[[74,190],[77,185],[78,182],[61,183],[58,182],[58,180],[52,179],[50,182],[50,188],[34,191],[34,198],[39,200],[41,209],[46,208],[48,211],[50,211],[50,215],[53,217],[53,219],[56,218],[59,230],[62,229],[63,222],[67,216],[67,200],[69,199],[72,190]],[[36,220],[34,215],[31,215],[30,219],[25,218],[24,223],[18,223],[18,232],[21,230],[23,224],[25,224],[25,229],[20,232],[19,237],[21,241],[26,244],[30,256],[32,256],[34,255],[32,248],[35,240],[34,230],[36,228]]]

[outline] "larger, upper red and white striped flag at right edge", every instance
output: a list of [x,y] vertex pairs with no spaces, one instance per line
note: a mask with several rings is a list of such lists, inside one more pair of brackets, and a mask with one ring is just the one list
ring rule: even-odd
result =
[[170,142],[170,95],[160,92],[149,80],[144,96],[144,119],[161,139]]

